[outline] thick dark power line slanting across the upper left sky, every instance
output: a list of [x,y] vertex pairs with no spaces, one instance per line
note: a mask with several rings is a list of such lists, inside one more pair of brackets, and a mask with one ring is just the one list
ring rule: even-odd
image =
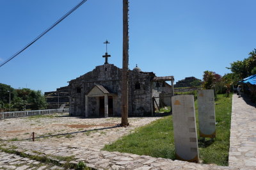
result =
[[77,8],[79,8],[83,3],[85,3],[87,0],[83,0],[81,1],[79,4],[77,4],[74,8],[72,8],[72,10],[70,10],[69,12],[67,12],[65,15],[63,15],[63,17],[61,17],[59,20],[57,20],[54,24],[52,24],[51,27],[49,27],[48,29],[46,29],[43,33],[41,33],[40,35],[38,35],[32,42],[28,43],[28,45],[26,45],[25,47],[23,47],[21,50],[19,50],[18,52],[16,52],[15,54],[13,54],[13,56],[11,56],[10,58],[6,59],[6,61],[4,61],[3,63],[1,63],[0,67],[5,65],[6,63],[8,63],[9,61],[11,61],[13,58],[15,58],[16,56],[18,56],[22,51],[28,49],[28,47],[30,45],[32,45],[33,43],[35,43],[37,40],[39,40],[42,36],[44,36],[46,33],[48,33],[52,28],[54,28],[55,26],[57,26],[63,19],[67,18],[68,15],[70,15],[72,12],[74,12]]

